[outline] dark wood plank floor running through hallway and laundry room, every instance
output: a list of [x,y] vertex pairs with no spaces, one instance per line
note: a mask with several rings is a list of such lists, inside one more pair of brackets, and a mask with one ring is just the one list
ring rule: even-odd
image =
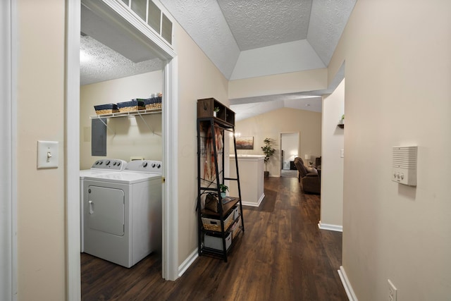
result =
[[125,269],[81,255],[82,300],[347,300],[337,270],[342,235],[319,230],[319,196],[297,178],[265,179],[260,207],[243,207],[245,233],[228,257],[199,257],[177,281],[151,254]]

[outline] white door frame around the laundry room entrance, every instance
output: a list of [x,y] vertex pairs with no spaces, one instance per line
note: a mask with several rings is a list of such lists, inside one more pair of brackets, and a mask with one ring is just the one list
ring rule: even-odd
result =
[[[109,7],[135,25],[142,23],[114,0],[84,0],[93,6]],[[66,299],[80,300],[80,7],[81,0],[66,0]],[[178,82],[175,52],[146,32],[168,59],[164,69],[163,107],[163,278],[178,278]]]

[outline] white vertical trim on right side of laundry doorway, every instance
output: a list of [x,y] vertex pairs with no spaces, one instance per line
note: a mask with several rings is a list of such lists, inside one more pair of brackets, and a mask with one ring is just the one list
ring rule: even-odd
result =
[[164,69],[163,278],[178,278],[178,57]]

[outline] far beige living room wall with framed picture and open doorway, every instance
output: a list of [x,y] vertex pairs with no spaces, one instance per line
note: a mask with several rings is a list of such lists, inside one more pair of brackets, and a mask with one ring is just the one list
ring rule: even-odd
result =
[[[270,176],[280,176],[280,133],[299,132],[300,154],[321,155],[321,113],[283,108],[238,121],[235,132],[254,137],[254,149],[238,150],[238,154],[263,154],[266,137],[274,140],[274,156],[268,161]],[[230,145],[230,148],[233,147]]]

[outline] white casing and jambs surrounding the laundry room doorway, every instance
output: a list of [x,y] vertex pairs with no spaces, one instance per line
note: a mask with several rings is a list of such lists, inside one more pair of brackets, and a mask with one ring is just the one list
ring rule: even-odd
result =
[[[161,82],[163,109],[161,112],[161,161],[163,177],[175,178],[177,157],[177,59],[173,49],[152,30],[143,29],[142,24],[120,3],[111,1],[75,0],[67,7],[67,70],[66,70],[66,140],[67,140],[67,288],[68,300],[80,299],[80,32],[81,6],[100,18],[108,20],[116,30],[129,32],[129,38],[137,38],[148,47],[148,51],[162,62]],[[130,17],[131,16],[131,17]],[[139,28],[139,29],[138,29]],[[84,118],[84,117],[83,117]],[[87,116],[89,118],[89,116]],[[92,162],[91,162],[92,163]],[[161,274],[166,280],[178,278],[177,221],[174,218],[178,205],[176,181],[162,184],[163,199],[163,250]]]

